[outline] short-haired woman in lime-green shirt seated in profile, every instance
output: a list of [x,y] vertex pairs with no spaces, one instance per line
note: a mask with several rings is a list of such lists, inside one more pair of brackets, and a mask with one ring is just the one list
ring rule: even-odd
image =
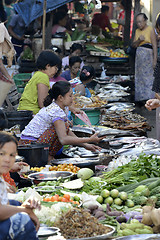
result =
[[51,50],[44,50],[37,58],[38,71],[26,85],[19,102],[18,110],[30,110],[33,114],[39,112],[50,89],[49,79],[52,78],[59,67],[61,59]]

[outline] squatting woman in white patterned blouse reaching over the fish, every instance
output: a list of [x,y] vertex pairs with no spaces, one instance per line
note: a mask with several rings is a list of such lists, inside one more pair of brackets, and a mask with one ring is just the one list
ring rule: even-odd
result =
[[49,160],[53,159],[63,145],[73,144],[85,147],[88,150],[99,150],[99,147],[88,144],[98,143],[101,140],[97,137],[97,133],[89,138],[78,138],[69,129],[67,114],[68,107],[71,106],[73,101],[72,97],[73,92],[69,82],[56,82],[49,90],[49,95],[44,101],[45,107],[25,127],[19,143],[49,144]]

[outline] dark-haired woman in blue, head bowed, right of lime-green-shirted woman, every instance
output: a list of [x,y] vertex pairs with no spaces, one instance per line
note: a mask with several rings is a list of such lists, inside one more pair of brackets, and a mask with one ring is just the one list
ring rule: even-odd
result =
[[80,65],[81,65],[81,58],[78,56],[73,56],[69,59],[69,70],[66,70],[61,74],[61,77],[65,78],[67,81],[70,81],[73,78],[78,77]]

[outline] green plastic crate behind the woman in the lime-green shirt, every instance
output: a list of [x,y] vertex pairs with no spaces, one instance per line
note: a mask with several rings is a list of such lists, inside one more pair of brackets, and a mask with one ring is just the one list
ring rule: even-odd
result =
[[18,73],[13,76],[14,82],[17,86],[18,92],[23,93],[27,82],[31,79],[31,73]]

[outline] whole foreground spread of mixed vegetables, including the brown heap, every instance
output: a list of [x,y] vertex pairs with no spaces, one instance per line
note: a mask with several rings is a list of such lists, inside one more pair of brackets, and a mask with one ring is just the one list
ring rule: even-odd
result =
[[[41,223],[59,227],[66,239],[97,236],[113,228],[116,237],[160,233],[157,156],[142,153],[99,177],[82,168],[77,178],[44,181],[33,189],[22,189],[27,196],[39,195],[42,209],[36,214]],[[16,194],[17,200],[24,201],[22,195],[22,191]]]

